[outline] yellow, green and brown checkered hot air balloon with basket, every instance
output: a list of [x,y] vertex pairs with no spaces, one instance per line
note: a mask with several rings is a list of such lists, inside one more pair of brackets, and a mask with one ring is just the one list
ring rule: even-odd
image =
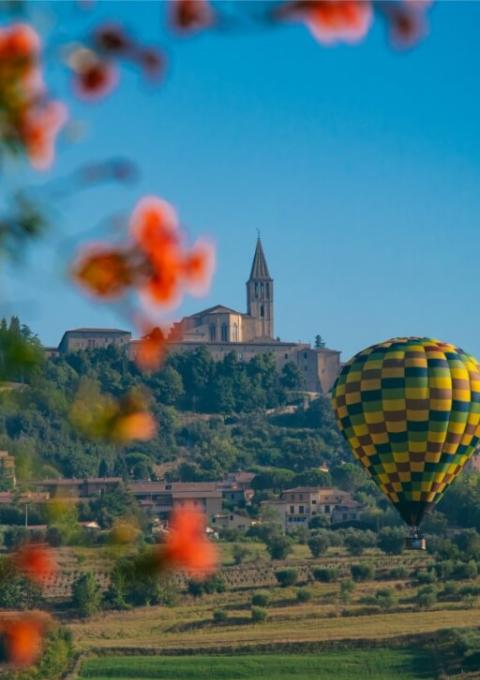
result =
[[333,388],[340,430],[355,457],[412,528],[474,453],[480,365],[431,338],[393,338],[356,354]]

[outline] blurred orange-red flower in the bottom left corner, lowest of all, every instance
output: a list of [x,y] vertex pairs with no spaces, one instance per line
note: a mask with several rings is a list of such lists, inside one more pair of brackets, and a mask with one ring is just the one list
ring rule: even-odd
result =
[[24,616],[0,622],[7,663],[31,666],[42,652],[44,623],[37,616]]

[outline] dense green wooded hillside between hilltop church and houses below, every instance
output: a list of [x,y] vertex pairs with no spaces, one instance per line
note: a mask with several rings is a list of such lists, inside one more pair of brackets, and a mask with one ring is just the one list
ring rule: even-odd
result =
[[[23,347],[38,350],[28,328],[6,330]],[[15,364],[14,364],[15,365]],[[157,372],[142,374],[113,346],[42,359],[25,370],[20,361],[10,380],[21,389],[0,392],[0,446],[17,455],[20,473],[82,476],[131,474],[147,478],[156,463],[183,461],[183,479],[214,479],[240,468],[287,469],[285,478],[349,459],[326,399],[306,410],[271,414],[295,398],[301,376],[293,364],[279,373],[273,357],[248,363],[229,354],[215,363],[205,350],[172,355]],[[100,394],[115,398],[145,388],[158,422],[155,439],[128,447],[92,442],[71,424],[80,392],[94,404]],[[270,415],[267,416],[267,411]]]

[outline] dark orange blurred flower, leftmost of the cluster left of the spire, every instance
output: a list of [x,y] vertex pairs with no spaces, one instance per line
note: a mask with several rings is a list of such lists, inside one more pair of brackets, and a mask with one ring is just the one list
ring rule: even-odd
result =
[[97,297],[116,298],[132,282],[126,255],[115,249],[94,246],[81,254],[73,267],[74,279]]

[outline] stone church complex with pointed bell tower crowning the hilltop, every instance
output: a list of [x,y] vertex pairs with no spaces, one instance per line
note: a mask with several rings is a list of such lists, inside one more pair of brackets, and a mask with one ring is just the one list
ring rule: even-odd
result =
[[[172,329],[171,351],[205,347],[217,361],[230,352],[235,352],[240,361],[271,353],[280,371],[289,362],[297,366],[308,391],[329,392],[340,371],[340,352],[325,347],[312,348],[307,343],[282,342],[274,335],[274,321],[274,283],[258,239],[247,281],[246,313],[215,305],[184,317]],[[181,340],[174,341],[173,338]],[[127,348],[130,357],[134,358],[137,343],[128,331],[77,328],[65,332],[58,348],[45,348],[45,351],[47,355],[55,356],[114,344]]]

